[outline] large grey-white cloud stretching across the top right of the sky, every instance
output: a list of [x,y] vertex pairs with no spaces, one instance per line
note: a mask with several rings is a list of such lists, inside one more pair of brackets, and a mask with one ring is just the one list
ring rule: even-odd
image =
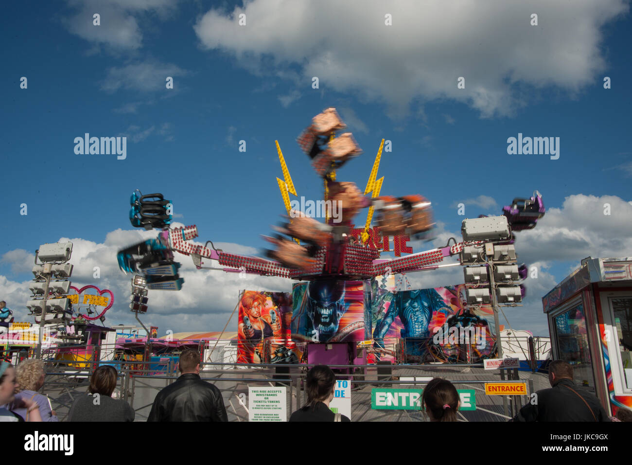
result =
[[[530,25],[533,11],[538,26]],[[287,70],[303,83],[316,76],[322,88],[384,102],[392,116],[406,114],[412,101],[443,98],[493,116],[528,104],[533,88],[572,93],[593,84],[606,65],[602,28],[628,11],[624,0],[574,1],[572,15],[568,4],[547,0],[253,0],[210,9],[193,28],[203,47],[255,74]],[[457,89],[458,77],[465,89]]]

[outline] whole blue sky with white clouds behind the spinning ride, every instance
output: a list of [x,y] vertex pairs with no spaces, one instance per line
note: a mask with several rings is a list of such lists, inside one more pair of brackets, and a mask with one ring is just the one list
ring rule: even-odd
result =
[[[525,306],[508,311],[514,328],[547,334],[540,298],[583,257],[632,255],[628,2],[500,9],[465,2],[449,12],[435,2],[329,3],[4,6],[0,299],[26,315],[33,252],[69,238],[73,283],[94,283],[88,264],[102,266],[102,288],[118,291],[108,323],[131,321],[127,278],[113,256],[142,235],[130,232],[128,221],[136,188],[171,199],[176,220],[197,225],[201,242],[261,254],[260,235],[284,213],[274,140],[298,194],[320,198],[322,183],[296,137],[329,106],[364,151],[338,171],[339,180],[363,189],[384,138],[392,152],[380,164],[382,194],[432,201],[437,240],[414,244],[415,252],[459,239],[459,202],[475,217],[498,214],[535,189],[544,195],[551,210],[516,241],[520,261],[540,273],[526,283]],[[533,12],[537,26],[530,25]],[[92,24],[94,13],[100,26]],[[384,24],[387,13],[392,26]],[[174,89],[166,89],[167,76]],[[313,76],[319,89],[312,89]],[[461,76],[465,89],[456,86]],[[604,89],[606,76],[611,89]],[[507,138],[519,132],[559,137],[559,159],[507,154]],[[84,133],[127,137],[126,159],[75,154],[73,140]],[[238,151],[240,140],[246,152]],[[356,224],[365,218],[363,211]],[[146,318],[161,330],[221,329],[244,283],[211,271],[184,273],[180,293],[151,294],[154,313]],[[456,284],[461,273],[417,273],[413,283]],[[291,287],[270,278],[247,283]]]

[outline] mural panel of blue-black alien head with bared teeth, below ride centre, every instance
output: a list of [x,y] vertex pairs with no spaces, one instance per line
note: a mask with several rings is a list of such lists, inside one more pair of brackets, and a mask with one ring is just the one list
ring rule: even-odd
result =
[[311,281],[293,288],[292,338],[309,342],[363,340],[362,281]]

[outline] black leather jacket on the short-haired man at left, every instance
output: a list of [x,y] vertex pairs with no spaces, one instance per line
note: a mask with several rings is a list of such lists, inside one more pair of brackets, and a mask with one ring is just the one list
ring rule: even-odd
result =
[[219,389],[185,373],[156,395],[147,421],[228,421],[228,416]]

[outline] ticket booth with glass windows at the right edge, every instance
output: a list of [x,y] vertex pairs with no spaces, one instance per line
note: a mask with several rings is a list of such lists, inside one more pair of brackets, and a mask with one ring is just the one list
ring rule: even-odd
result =
[[604,409],[632,410],[632,257],[592,258],[542,297],[552,358]]

